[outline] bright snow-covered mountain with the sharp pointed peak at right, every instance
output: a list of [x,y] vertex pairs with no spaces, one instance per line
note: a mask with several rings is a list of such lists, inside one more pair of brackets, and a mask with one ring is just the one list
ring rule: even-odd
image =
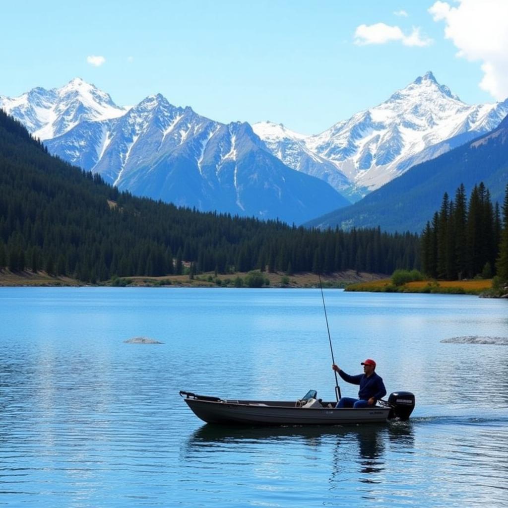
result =
[[[253,130],[272,153],[298,171],[309,171],[344,192],[365,194],[389,182],[414,164],[434,158],[496,128],[508,113],[508,100],[468,105],[431,72],[395,92],[388,101],[361,111],[314,136],[302,136],[267,122]],[[333,166],[309,165],[320,157]],[[330,174],[340,172],[338,176]]]

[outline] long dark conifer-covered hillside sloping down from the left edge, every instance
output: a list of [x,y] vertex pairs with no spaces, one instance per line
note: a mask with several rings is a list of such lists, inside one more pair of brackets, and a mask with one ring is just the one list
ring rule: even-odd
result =
[[417,235],[307,230],[120,193],[50,156],[0,111],[0,270],[95,282],[189,268],[391,273],[419,264]]

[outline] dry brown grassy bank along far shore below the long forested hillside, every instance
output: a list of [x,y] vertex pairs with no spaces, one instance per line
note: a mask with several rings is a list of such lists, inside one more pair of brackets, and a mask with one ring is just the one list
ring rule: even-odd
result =
[[[286,275],[284,273],[262,272],[264,279],[263,287],[269,288],[315,288],[319,287],[319,279],[313,273],[298,273]],[[365,283],[386,277],[371,273],[347,270],[322,275],[323,287],[325,288],[345,288],[347,285],[355,283]],[[129,287],[195,287],[195,288],[217,288],[217,287],[245,287],[248,284],[248,274],[244,272],[231,273],[227,275],[214,272],[195,275],[190,279],[188,275],[167,275],[164,277],[115,277],[112,280],[100,281],[96,284],[84,283],[69,277],[56,277],[48,275],[45,272],[33,273],[23,271],[18,273],[9,270],[0,270],[0,286],[129,286]]]

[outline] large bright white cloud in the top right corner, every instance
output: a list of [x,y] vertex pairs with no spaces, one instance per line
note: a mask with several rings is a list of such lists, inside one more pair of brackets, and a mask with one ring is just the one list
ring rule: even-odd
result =
[[457,56],[480,61],[484,72],[480,88],[496,100],[508,97],[508,2],[459,0],[453,6],[435,2],[429,9],[434,21],[444,21],[444,37],[459,50]]

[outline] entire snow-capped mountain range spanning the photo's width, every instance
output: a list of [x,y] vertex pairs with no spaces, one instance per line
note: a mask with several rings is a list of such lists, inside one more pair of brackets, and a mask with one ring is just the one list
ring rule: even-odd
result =
[[161,95],[127,110],[79,78],[0,97],[0,107],[52,153],[121,189],[299,223],[491,131],[508,113],[508,100],[467,105],[428,72],[383,104],[314,136],[270,122],[222,124]]

